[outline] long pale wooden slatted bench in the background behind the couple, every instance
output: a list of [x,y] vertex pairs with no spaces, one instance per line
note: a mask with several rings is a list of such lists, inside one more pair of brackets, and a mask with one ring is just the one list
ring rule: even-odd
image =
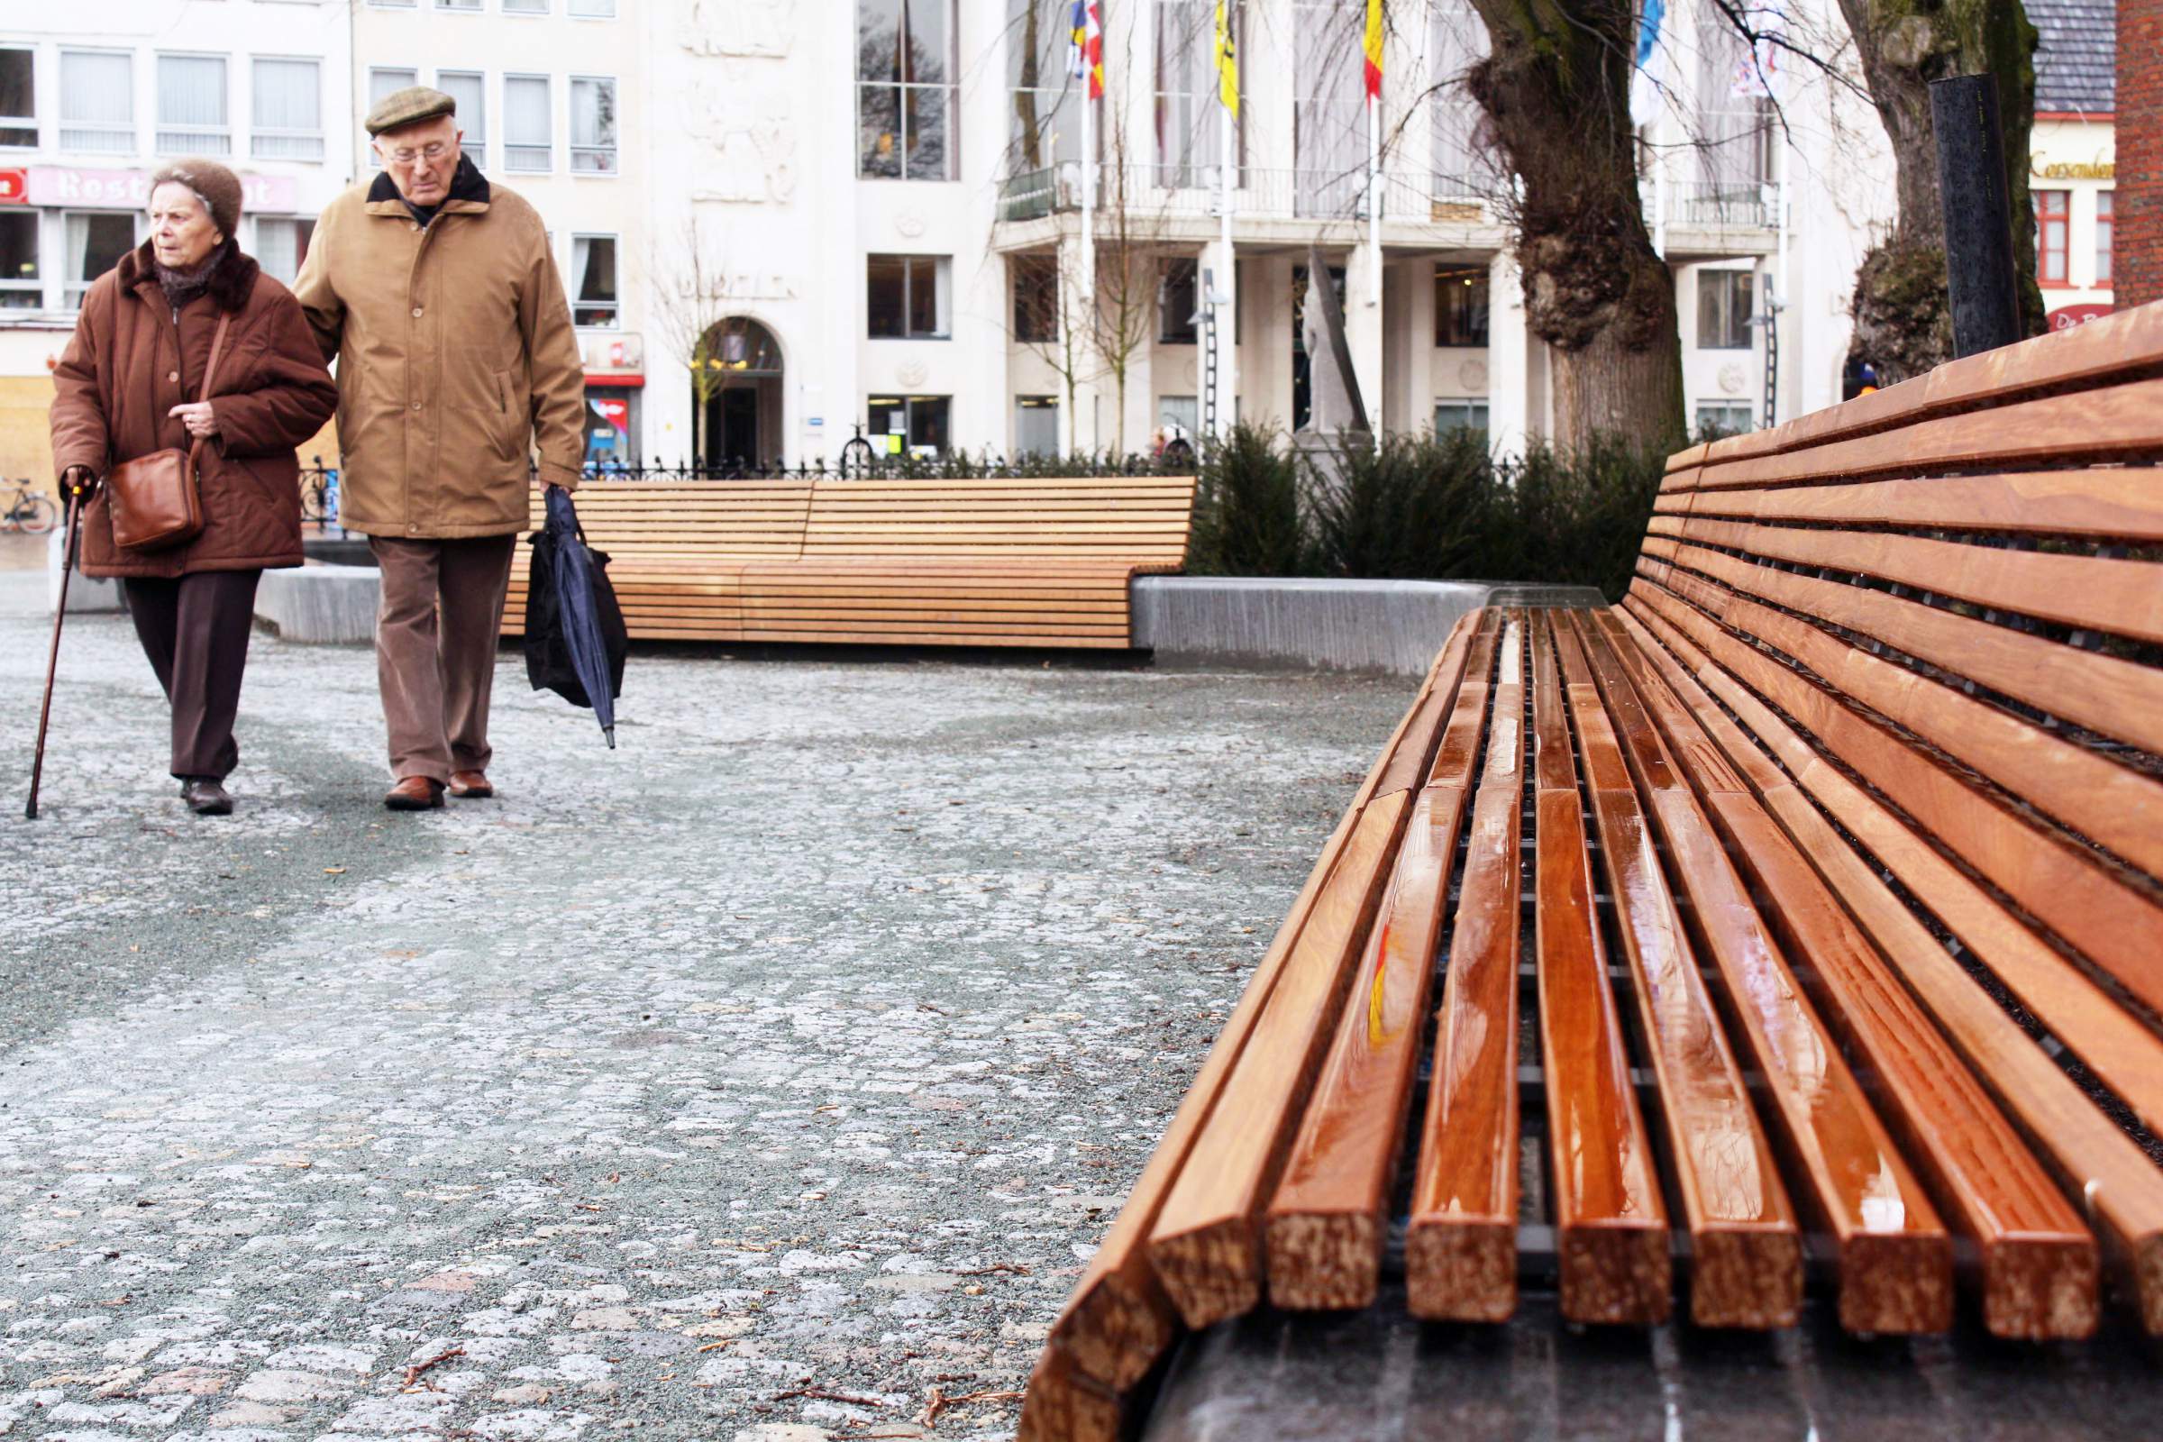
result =
[[[1129,584],[1185,564],[1192,508],[1194,480],[1166,476],[578,493],[629,633],[712,642],[1131,646]],[[526,625],[526,556],[504,633]]]

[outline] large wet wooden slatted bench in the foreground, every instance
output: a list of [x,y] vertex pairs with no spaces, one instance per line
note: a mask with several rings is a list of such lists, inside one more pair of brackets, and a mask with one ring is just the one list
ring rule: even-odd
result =
[[1467,616],[1021,1436],[1384,1273],[1454,1323],[2163,1336],[2159,460],[2150,305],[1691,448],[1620,607]]

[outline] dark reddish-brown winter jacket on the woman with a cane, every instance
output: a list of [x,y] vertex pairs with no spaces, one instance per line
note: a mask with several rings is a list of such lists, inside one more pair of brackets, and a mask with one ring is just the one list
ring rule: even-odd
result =
[[76,335],[52,378],[52,460],[65,478],[99,480],[121,460],[188,448],[173,406],[199,396],[218,316],[231,313],[210,387],[218,432],[197,456],[203,532],[162,551],[112,545],[106,491],[82,512],[82,571],[175,577],[301,564],[301,463],[294,448],[322,430],[337,389],[292,292],[227,246],[210,288],[175,320],[151,246],[123,255],[82,301]]

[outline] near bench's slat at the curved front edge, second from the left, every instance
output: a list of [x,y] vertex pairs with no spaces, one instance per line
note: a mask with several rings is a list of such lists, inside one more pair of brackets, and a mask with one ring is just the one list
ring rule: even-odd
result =
[[[1484,618],[1479,612],[1458,618],[1436,657],[1434,670],[1428,672],[1428,681],[1421,685],[1421,696],[1434,685],[1456,685],[1462,677],[1471,638],[1482,625]],[[1133,1388],[1155,1366],[1177,1334],[1179,1314],[1149,1258],[1149,1237],[1164,1200],[1179,1180],[1194,1139],[1209,1120],[1233,1066],[1246,1051],[1248,1038],[1261,1020],[1270,994],[1276,990],[1285,962],[1306,930],[1324,882],[1335,876],[1337,863],[1352,841],[1356,822],[1374,798],[1397,748],[1404,744],[1417,709],[1419,698],[1404,713],[1404,720],[1397,722],[1397,729],[1382,746],[1382,757],[1367,772],[1358,793],[1352,798],[1352,806],[1337,822],[1337,830],[1322,847],[1322,856],[1315,858],[1306,884],[1293,899],[1283,925],[1278,925],[1268,953],[1255,966],[1255,975],[1224,1020],[1224,1029],[1218,1031],[1218,1040],[1209,1046],[1209,1055],[1187,1085],[1187,1094],[1164,1129],[1164,1137],[1144,1163],[1140,1178],[1127,1191],[1127,1202],[1112,1219],[1073,1295],[1051,1323],[1049,1345],[1062,1347],[1077,1373],[1101,1381],[1118,1394]]]

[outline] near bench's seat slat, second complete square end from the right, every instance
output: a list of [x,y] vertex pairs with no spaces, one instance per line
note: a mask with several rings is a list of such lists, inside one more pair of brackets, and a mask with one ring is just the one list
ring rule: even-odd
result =
[[[1633,685],[1598,627],[1577,623],[1609,716]],[[1666,746],[1655,735],[1666,755]],[[1715,761],[1709,739],[1689,742],[1691,761],[1713,772],[1711,791],[1741,780]],[[1808,1178],[1817,1213],[1839,1252],[1841,1325],[1852,1332],[1942,1332],[1953,1314],[1953,1247],[1938,1213],[1877,1120],[1862,1087],[1802,994],[1711,817],[1668,763],[1674,785],[1650,787],[1648,765],[1629,752],[1631,774],[1668,867],[1691,902],[1698,938],[1726,988],[1739,1033],[1771,1096],[1771,1118],[1789,1157]]]

